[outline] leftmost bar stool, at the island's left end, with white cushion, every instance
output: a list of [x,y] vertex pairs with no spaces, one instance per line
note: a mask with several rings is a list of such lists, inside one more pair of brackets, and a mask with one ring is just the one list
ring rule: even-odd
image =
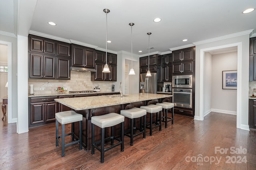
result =
[[[56,119],[56,147],[61,144],[61,156],[65,156],[65,147],[79,143],[79,149],[82,150],[82,120],[83,115],[76,113],[74,110],[61,111],[55,113]],[[74,134],[74,122],[79,121],[79,137]],[[59,123],[61,124],[61,135],[59,136]],[[72,123],[71,133],[65,134],[65,124]],[[72,142],[65,144],[65,137],[71,135]],[[61,141],[60,141],[61,138]],[[74,138],[77,140],[74,141]]]

